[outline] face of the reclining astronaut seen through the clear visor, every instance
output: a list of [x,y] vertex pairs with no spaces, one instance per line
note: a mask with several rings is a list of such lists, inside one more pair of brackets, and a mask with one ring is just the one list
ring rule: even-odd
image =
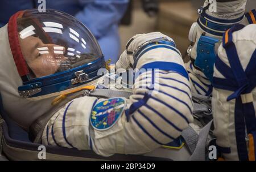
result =
[[22,54],[27,65],[34,72],[36,78],[54,74],[61,65],[61,62],[67,60],[64,53],[56,54],[55,48],[63,46],[55,44],[44,44],[38,37],[28,36],[24,39],[19,38]]

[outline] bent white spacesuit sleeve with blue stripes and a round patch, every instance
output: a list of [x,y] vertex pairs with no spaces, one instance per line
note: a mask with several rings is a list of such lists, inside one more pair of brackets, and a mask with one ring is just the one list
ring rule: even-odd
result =
[[[166,48],[147,51],[137,67],[159,64],[168,68],[178,66],[185,71],[180,55]],[[193,121],[191,88],[188,78],[175,67],[174,70],[156,68],[160,66],[154,68],[155,72],[149,70],[137,77],[129,99],[81,97],[69,102],[49,120],[43,144],[92,149],[102,156],[111,156],[151,152],[176,139]],[[115,113],[112,110],[105,113],[112,121],[102,128],[101,110],[108,112],[109,102],[117,105],[117,109]],[[97,123],[91,121],[95,118]]]

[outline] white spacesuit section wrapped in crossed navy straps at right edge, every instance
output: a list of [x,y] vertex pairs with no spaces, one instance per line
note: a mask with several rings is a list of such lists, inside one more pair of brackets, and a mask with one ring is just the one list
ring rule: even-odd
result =
[[216,144],[226,160],[254,160],[256,25],[236,25],[223,38],[214,67]]

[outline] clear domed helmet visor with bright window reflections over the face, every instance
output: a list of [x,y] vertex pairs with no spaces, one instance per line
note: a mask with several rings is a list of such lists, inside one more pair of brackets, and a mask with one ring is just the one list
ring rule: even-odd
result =
[[73,16],[56,10],[26,10],[18,18],[19,44],[30,73],[40,78],[102,58],[96,38]]

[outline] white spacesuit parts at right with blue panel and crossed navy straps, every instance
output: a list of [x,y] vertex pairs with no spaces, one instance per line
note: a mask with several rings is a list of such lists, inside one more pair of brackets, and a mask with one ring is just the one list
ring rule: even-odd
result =
[[212,94],[215,145],[225,160],[255,160],[256,12],[244,15],[245,6],[243,0],[217,1],[211,12],[205,1],[189,33],[195,42],[187,64],[192,92]]

